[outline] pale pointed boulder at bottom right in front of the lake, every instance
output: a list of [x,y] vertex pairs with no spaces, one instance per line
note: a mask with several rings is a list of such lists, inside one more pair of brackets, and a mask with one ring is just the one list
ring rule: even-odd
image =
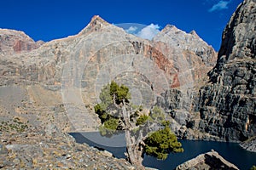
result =
[[205,154],[196,156],[194,159],[186,161],[175,168],[176,170],[183,169],[232,169],[238,170],[234,164],[224,160],[224,158],[218,155],[216,151],[209,151]]

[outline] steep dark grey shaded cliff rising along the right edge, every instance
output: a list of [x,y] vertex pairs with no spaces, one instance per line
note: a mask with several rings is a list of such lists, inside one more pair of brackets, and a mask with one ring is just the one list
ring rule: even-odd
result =
[[256,2],[246,0],[225,27],[218,62],[209,72],[209,85],[200,90],[203,132],[227,141],[256,133]]

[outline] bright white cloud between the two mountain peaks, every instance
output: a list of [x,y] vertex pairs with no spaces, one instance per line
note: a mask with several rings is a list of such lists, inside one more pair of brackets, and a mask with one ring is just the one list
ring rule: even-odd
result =
[[137,37],[142,37],[144,39],[152,40],[152,38],[160,32],[160,26],[150,24],[149,26],[144,27],[141,31],[137,33]]

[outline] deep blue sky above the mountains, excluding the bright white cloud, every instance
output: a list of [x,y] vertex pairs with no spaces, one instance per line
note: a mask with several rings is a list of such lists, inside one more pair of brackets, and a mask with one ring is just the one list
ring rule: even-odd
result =
[[[197,34],[218,51],[221,34],[242,0],[0,0],[0,28],[45,42],[77,34],[93,15],[109,23],[171,24]],[[151,25],[152,26],[152,25]]]

